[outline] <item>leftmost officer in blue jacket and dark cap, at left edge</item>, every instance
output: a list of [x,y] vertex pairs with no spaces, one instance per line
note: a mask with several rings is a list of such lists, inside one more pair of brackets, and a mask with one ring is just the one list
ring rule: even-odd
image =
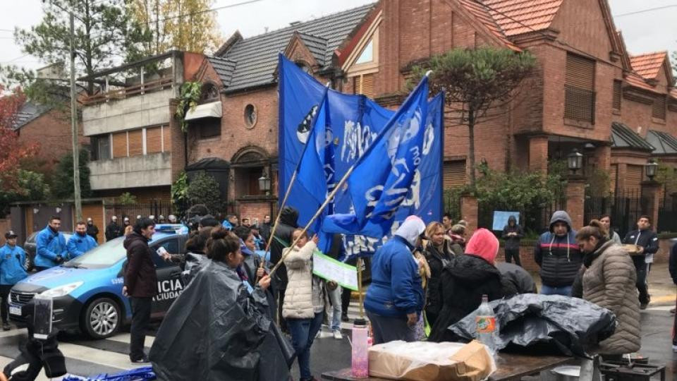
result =
[[0,248],[0,297],[2,298],[0,312],[2,314],[2,329],[10,329],[8,323],[9,306],[7,299],[12,286],[20,280],[28,277],[24,263],[26,253],[22,248],[16,246],[16,234],[13,231],[5,233],[7,243]]

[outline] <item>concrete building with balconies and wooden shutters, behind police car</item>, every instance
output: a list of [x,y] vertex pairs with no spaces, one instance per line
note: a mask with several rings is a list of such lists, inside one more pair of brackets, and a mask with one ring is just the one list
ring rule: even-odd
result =
[[97,197],[129,192],[139,202],[171,199],[171,183],[185,166],[183,133],[173,114],[186,56],[169,52],[80,78],[100,86],[82,107]]

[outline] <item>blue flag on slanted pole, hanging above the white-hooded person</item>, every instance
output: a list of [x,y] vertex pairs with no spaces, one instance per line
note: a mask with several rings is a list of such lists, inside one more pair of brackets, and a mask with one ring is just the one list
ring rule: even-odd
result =
[[[421,80],[348,177],[353,213],[336,214],[325,231],[383,237],[412,193],[421,164],[427,119],[428,78]],[[420,174],[419,174],[420,176]]]

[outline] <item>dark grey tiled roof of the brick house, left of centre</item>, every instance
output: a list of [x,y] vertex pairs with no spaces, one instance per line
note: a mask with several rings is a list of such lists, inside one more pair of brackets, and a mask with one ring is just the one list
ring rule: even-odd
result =
[[[318,63],[322,65],[321,69],[331,66],[334,50],[360,25],[374,5],[367,4],[263,35],[235,40],[231,47],[219,49],[221,58],[235,63],[235,69],[227,78],[229,85],[226,91],[275,83],[277,54],[284,51],[295,31],[313,56],[320,58]],[[326,41],[324,48],[322,40]]]

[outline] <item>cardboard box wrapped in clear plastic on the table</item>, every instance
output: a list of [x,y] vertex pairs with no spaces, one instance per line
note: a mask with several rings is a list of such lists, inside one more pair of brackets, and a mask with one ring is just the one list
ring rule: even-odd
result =
[[396,380],[479,381],[496,371],[489,350],[470,344],[390,341],[369,349],[369,375]]

